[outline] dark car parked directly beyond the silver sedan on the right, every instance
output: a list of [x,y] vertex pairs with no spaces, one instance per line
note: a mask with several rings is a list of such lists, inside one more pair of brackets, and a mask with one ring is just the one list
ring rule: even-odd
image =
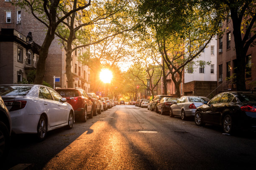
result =
[[168,113],[170,111],[170,106],[177,102],[177,98],[174,97],[164,97],[160,100],[159,103],[156,105],[156,112],[159,112],[160,114],[163,115],[164,113]]

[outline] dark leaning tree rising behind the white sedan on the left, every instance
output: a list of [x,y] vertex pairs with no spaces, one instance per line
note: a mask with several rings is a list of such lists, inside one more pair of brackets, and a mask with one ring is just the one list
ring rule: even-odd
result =
[[[76,3],[75,9],[70,9],[67,13],[63,13],[66,5],[69,3]],[[54,40],[54,35],[58,25],[64,21],[69,15],[79,10],[84,10],[91,5],[91,0],[88,1],[60,1],[60,0],[20,0],[16,5],[26,9],[39,22],[43,23],[47,28],[46,37],[41,45],[39,58],[36,66],[35,84],[42,84],[44,80],[46,58],[48,56],[49,47]]]

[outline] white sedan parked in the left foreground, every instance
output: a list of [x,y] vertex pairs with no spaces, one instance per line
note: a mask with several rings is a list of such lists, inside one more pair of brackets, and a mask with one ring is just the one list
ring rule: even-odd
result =
[[0,85],[14,133],[36,133],[44,140],[56,128],[73,127],[74,110],[55,90],[44,85]]

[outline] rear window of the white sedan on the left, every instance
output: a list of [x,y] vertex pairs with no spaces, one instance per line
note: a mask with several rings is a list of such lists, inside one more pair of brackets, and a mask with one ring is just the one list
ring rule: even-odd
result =
[[0,95],[27,95],[32,86],[1,85]]

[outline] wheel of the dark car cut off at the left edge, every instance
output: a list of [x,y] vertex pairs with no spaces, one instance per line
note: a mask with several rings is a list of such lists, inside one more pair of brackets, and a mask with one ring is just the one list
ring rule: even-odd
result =
[[10,132],[6,125],[0,121],[0,162],[6,160],[10,148]]

